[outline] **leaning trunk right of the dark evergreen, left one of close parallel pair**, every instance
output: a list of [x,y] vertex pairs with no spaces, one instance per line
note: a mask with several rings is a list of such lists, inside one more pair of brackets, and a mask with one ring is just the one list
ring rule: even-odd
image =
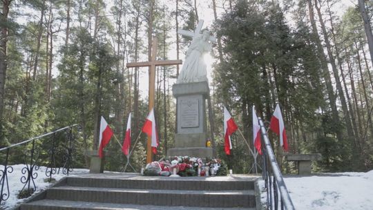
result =
[[[318,59],[320,59],[320,62],[321,62],[321,68],[323,70],[323,77],[325,79],[325,85],[327,88],[329,104],[330,104],[330,108],[332,109],[332,119],[333,119],[334,124],[339,126],[341,124],[341,121],[339,120],[338,111],[336,108],[336,96],[334,94],[334,90],[332,86],[332,79],[330,78],[329,69],[327,68],[326,55],[324,53],[323,45],[321,44],[321,39],[318,35],[316,21],[314,19],[314,8],[312,6],[312,0],[308,0],[308,8],[309,8],[309,21],[311,21],[313,39],[316,42]],[[343,138],[341,129],[337,128],[335,132],[336,132],[336,137],[338,138],[338,140],[341,140]]]

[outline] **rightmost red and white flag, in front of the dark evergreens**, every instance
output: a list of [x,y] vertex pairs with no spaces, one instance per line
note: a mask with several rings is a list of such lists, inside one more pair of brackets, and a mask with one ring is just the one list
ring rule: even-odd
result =
[[269,128],[280,136],[280,145],[283,146],[285,151],[288,151],[285,124],[283,115],[281,115],[280,106],[278,106],[278,104],[276,105],[274,115],[271,117],[271,124]]

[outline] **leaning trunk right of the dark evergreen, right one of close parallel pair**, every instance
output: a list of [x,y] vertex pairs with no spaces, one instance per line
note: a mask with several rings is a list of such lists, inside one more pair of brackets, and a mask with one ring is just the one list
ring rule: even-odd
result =
[[348,113],[347,103],[345,100],[345,95],[343,94],[343,88],[341,85],[341,80],[339,79],[338,75],[338,69],[336,68],[336,62],[334,59],[334,55],[332,53],[332,45],[330,44],[329,37],[327,36],[327,30],[325,28],[325,23],[323,21],[323,15],[321,14],[321,9],[318,7],[318,0],[315,0],[315,8],[318,13],[318,20],[321,24],[321,29],[323,30],[324,35],[324,41],[327,48],[327,55],[329,56],[329,62],[332,66],[332,70],[334,73],[334,78],[336,80],[336,88],[338,92],[339,99],[341,101],[342,111],[345,118],[346,128],[347,128],[347,135],[350,138],[350,140],[354,140],[354,132],[352,131],[352,125],[351,125],[351,119],[350,119],[350,113]]

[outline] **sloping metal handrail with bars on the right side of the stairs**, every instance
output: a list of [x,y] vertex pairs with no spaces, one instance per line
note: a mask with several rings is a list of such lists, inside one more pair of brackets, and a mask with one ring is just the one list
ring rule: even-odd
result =
[[282,210],[284,208],[286,210],[294,210],[294,204],[291,201],[280,167],[277,164],[265,125],[260,117],[258,117],[258,121],[260,132],[262,133],[262,142],[265,143],[265,145],[262,146],[262,177],[265,181],[265,189],[267,190],[267,205],[269,209],[277,210],[280,205],[280,209]]

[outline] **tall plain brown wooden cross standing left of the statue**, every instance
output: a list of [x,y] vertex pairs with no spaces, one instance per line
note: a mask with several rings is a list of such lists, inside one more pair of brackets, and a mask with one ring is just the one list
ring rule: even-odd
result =
[[[155,66],[170,66],[182,64],[182,60],[166,60],[157,61],[157,38],[153,37],[151,43],[151,60],[137,63],[127,63],[127,68],[133,67],[144,67],[149,66],[149,112],[154,107],[154,96],[155,96]],[[151,152],[151,137],[148,137],[147,152],[146,152],[146,163],[150,163],[153,160],[153,153]]]

